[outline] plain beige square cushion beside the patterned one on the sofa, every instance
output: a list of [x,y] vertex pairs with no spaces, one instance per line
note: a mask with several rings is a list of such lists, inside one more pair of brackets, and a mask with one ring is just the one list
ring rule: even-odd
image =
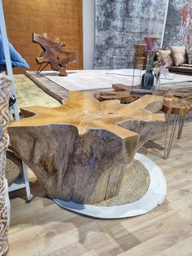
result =
[[176,66],[186,63],[185,46],[171,46],[172,60]]

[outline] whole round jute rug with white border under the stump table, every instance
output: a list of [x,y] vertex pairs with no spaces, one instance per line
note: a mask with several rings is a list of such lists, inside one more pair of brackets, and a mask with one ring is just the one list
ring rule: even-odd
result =
[[54,198],[56,204],[94,218],[126,218],[146,214],[163,203],[166,179],[159,166],[148,157],[136,153],[133,166],[124,173],[119,194],[97,205],[81,205]]

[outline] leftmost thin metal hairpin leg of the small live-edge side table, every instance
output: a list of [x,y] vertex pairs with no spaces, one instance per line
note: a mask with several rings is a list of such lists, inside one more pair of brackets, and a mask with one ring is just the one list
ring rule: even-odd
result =
[[177,122],[180,120],[181,115],[175,115],[174,121],[172,123],[172,130],[171,134],[168,140],[168,126],[170,123],[170,115],[168,115],[168,122],[167,122],[167,129],[166,129],[166,135],[165,135],[165,143],[164,143],[164,159],[168,159],[168,156],[170,154],[171,148],[172,148],[172,140],[175,135]]

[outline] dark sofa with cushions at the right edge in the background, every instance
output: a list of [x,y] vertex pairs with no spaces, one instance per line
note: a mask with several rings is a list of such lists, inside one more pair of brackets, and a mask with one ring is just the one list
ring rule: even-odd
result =
[[171,73],[192,75],[192,49],[185,46],[171,46],[168,50],[156,51],[157,62],[164,61]]

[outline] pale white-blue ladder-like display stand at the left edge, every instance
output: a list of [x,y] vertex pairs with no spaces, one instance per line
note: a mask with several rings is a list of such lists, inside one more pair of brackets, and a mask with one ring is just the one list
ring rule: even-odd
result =
[[[6,30],[6,24],[5,24],[5,18],[4,18],[4,13],[3,13],[3,8],[2,8],[2,0],[0,0],[0,33],[2,35],[2,46],[3,46],[3,51],[5,55],[5,60],[6,60],[6,66],[7,66],[7,74],[8,77],[11,78],[12,84],[11,84],[11,92],[13,95],[16,96],[15,93],[15,85],[14,85],[14,76],[13,76],[13,71],[12,71],[12,66],[11,66],[11,56],[10,56],[10,51],[9,51],[9,45],[8,45],[8,39],[7,39],[7,30]],[[15,102],[13,105],[13,114],[16,120],[20,119],[20,112],[19,112],[19,107],[18,104]],[[22,161],[22,179],[16,179],[14,183],[11,184],[9,187],[9,192],[15,191],[20,188],[25,188],[26,189],[26,195],[27,195],[27,200],[31,201],[33,196],[30,192],[30,187],[28,183],[28,171],[27,167]]]

